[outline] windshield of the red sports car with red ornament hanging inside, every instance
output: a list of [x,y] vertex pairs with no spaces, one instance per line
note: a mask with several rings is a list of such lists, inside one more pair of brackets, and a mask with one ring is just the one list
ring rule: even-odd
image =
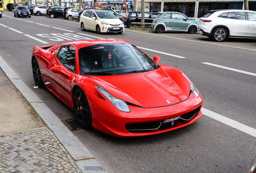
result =
[[155,70],[157,64],[131,44],[107,43],[78,50],[81,75],[119,75]]

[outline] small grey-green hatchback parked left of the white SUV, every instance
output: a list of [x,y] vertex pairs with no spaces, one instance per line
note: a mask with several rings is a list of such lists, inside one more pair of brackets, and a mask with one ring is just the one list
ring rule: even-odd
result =
[[191,20],[180,12],[159,12],[157,18],[152,22],[151,28],[157,33],[184,31],[194,34],[197,32],[198,21]]

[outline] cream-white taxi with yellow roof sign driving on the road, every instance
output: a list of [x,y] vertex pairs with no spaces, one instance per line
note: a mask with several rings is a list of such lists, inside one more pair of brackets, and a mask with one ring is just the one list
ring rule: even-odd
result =
[[107,10],[86,10],[80,18],[80,27],[83,31],[94,30],[101,32],[124,32],[124,22]]

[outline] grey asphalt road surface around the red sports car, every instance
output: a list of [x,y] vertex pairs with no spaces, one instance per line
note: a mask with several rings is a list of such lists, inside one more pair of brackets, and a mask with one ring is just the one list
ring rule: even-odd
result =
[[[232,39],[218,45],[199,34],[96,34],[81,31],[78,22],[61,18],[14,18],[13,12],[2,15],[0,56],[31,89],[35,86],[31,69],[33,46],[75,39],[118,38],[141,47],[151,58],[161,56],[159,64],[182,70],[200,91],[205,109],[256,129],[256,51],[228,47],[255,50],[256,40]],[[33,91],[60,120],[74,118],[73,111],[46,88]],[[188,127],[147,137],[116,138],[93,129],[73,133],[109,173],[244,173],[256,156],[254,136],[205,115]]]

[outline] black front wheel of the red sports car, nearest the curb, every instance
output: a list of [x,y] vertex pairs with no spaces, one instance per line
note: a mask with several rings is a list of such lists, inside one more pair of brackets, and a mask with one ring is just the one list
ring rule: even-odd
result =
[[74,91],[74,115],[83,129],[90,129],[92,124],[91,109],[83,90],[78,87]]

